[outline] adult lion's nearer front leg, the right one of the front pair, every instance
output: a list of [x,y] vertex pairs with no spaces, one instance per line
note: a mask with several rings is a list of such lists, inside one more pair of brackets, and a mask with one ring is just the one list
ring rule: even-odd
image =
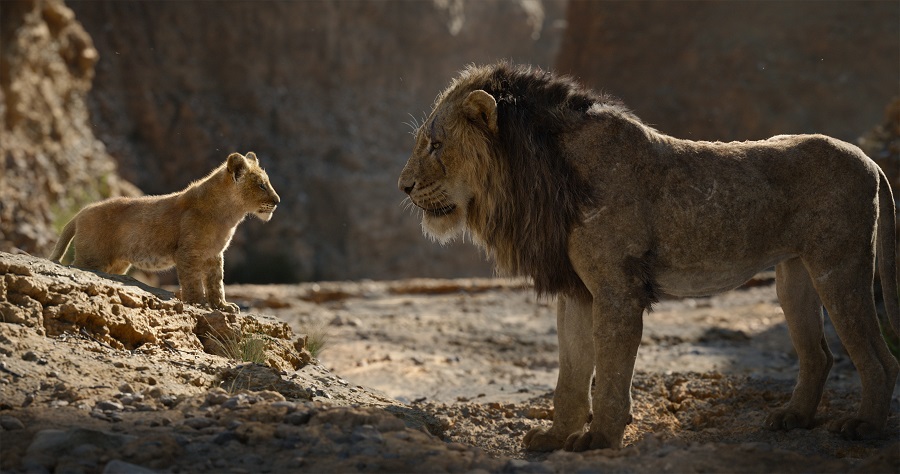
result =
[[566,440],[567,451],[622,447],[631,423],[631,379],[641,343],[644,308],[628,298],[595,299],[593,341],[596,384],[590,429]]

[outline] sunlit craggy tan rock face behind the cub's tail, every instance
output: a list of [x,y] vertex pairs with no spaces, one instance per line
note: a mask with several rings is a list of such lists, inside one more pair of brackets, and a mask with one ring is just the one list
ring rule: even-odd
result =
[[62,1],[0,2],[0,249],[45,255],[82,205],[138,192],[91,130],[97,57]]

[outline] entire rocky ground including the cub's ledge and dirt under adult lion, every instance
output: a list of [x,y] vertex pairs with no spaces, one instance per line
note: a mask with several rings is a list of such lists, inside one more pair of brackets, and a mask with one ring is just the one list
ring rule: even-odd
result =
[[858,402],[833,332],[817,425],[761,428],[797,361],[770,279],[753,283],[646,316],[624,449],[532,454],[556,335],[522,282],[230,286],[230,316],[0,253],[0,469],[897,472],[900,387],[884,439],[824,427]]

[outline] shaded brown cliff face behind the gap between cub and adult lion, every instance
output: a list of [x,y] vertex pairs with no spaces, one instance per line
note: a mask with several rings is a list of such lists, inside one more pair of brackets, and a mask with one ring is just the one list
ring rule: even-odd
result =
[[90,109],[124,177],[180,189],[255,151],[282,197],[226,279],[488,275],[423,238],[396,180],[408,123],[471,62],[552,65],[564,3],[70,2],[100,53]]

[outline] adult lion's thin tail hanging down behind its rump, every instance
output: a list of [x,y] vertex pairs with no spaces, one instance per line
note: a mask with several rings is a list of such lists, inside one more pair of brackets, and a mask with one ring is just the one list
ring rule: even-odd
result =
[[[880,171],[880,170],[879,170]],[[884,295],[884,309],[894,334],[900,336],[900,281],[897,280],[897,217],[894,195],[884,171],[880,171],[878,186],[878,275],[881,277],[881,292]]]

